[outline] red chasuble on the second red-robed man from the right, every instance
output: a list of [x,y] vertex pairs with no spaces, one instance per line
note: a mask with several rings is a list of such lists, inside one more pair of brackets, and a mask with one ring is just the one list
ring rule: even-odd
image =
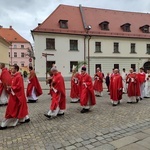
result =
[[128,83],[128,96],[140,96],[141,94],[138,75],[136,73],[129,73],[127,75],[126,81]]

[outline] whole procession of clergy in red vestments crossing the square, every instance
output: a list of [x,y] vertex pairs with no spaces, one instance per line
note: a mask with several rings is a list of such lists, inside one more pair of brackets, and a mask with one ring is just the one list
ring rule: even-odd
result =
[[[26,94],[19,66],[13,65],[11,70],[7,70],[5,64],[1,63],[0,69],[0,106],[6,105],[6,112],[1,122],[0,130],[4,130],[7,127],[30,122],[27,103],[36,102],[38,96],[42,95],[42,89],[32,67],[29,67],[30,75]],[[50,87],[51,102],[49,111],[44,116],[51,119],[64,115],[66,90],[64,78],[55,65],[51,68],[49,75],[46,82]],[[124,93],[128,96],[128,104],[138,103],[139,100],[150,97],[150,70],[145,73],[144,68],[140,68],[140,72],[136,73],[131,68],[127,74],[125,69],[123,69],[122,73],[118,69],[113,69],[112,73],[107,73],[105,77],[100,68],[97,68],[93,84],[92,77],[86,72],[86,67],[82,66],[81,73],[77,72],[76,67],[72,69],[71,103],[80,102],[82,106],[81,113],[89,112],[96,104],[95,97],[103,96],[104,82],[106,83],[112,106],[120,104]]]

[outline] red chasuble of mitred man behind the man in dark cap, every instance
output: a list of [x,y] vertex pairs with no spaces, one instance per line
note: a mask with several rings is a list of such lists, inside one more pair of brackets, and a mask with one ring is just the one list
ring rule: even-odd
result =
[[71,90],[70,90],[70,97],[71,98],[79,98],[79,82],[80,82],[80,74],[75,73],[71,77]]

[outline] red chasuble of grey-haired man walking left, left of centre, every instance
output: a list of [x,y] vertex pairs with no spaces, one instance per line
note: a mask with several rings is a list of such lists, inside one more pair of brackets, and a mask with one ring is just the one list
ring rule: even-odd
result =
[[50,92],[52,96],[50,110],[55,110],[57,107],[61,110],[66,109],[65,83],[60,72],[53,75],[52,87]]

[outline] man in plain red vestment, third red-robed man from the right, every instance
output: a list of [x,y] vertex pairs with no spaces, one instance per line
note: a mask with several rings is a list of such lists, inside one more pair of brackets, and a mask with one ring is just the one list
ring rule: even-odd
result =
[[120,104],[120,100],[122,99],[122,77],[119,74],[118,69],[114,69],[114,74],[110,79],[110,99],[112,100],[112,105],[117,106]]

